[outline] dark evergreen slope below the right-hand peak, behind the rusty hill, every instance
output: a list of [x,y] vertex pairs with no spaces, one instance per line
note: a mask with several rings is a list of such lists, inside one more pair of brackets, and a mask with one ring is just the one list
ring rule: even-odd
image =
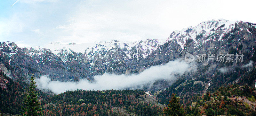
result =
[[[238,50],[229,52],[237,52]],[[242,63],[218,63],[216,65],[201,65],[196,72],[186,73],[180,76],[172,85],[165,90],[156,92],[156,98],[161,104],[167,104],[172,93],[181,96],[184,105],[189,105],[196,98],[198,93],[206,93],[218,90],[221,86],[230,84],[255,85],[256,75],[256,51],[255,49],[244,52],[244,62],[251,63],[250,67],[245,67]],[[245,63],[244,63],[245,64]],[[225,67],[226,72],[221,72]]]

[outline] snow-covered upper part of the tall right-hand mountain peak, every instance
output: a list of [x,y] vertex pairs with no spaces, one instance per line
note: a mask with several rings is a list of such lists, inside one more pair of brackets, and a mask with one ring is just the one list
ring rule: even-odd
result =
[[195,27],[189,26],[180,31],[173,31],[168,39],[176,39],[177,43],[180,44],[182,49],[184,49],[184,45],[189,39],[192,39],[197,45],[204,44],[210,40],[220,40],[221,35],[219,38],[215,37],[214,39],[209,40],[204,40],[204,37],[208,37],[212,34],[224,34],[231,31],[235,27],[236,23],[239,23],[239,21],[228,21],[225,19],[203,21]]

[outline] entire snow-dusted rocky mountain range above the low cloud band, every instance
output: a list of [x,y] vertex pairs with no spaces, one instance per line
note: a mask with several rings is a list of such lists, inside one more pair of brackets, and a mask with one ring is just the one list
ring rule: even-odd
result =
[[103,73],[139,73],[152,65],[184,58],[186,53],[251,52],[255,40],[255,24],[220,19],[173,31],[166,40],[51,43],[47,48],[19,48],[15,43],[2,42],[0,61],[16,79],[48,74],[53,80],[70,81],[93,79],[93,75]]

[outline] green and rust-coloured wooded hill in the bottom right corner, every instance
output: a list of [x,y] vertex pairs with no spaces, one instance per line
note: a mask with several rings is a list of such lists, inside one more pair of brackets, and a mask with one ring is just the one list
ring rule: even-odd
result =
[[228,85],[215,92],[197,96],[197,100],[187,107],[187,114],[196,115],[256,115],[256,89],[248,85]]

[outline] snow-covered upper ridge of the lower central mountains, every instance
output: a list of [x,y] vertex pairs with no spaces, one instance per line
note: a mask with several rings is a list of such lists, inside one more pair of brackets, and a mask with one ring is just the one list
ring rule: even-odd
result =
[[[162,41],[161,41],[162,42]],[[112,48],[119,48],[127,54],[127,59],[133,58],[131,56],[134,52],[142,55],[143,58],[147,57],[152,53],[156,48],[161,44],[159,39],[146,39],[136,42],[119,42],[118,40],[112,41],[100,41],[96,43],[69,43],[69,44],[60,44],[60,43],[49,43],[44,46],[47,49],[50,49],[52,53],[58,55],[68,55],[70,52],[84,53],[90,60],[93,59],[95,54],[98,54],[100,58],[103,58],[104,55]],[[163,43],[163,42],[162,42]],[[65,53],[64,53],[65,52]],[[137,55],[138,55],[137,54]],[[60,56],[58,55],[58,56]],[[65,57],[61,58],[65,62]]]

